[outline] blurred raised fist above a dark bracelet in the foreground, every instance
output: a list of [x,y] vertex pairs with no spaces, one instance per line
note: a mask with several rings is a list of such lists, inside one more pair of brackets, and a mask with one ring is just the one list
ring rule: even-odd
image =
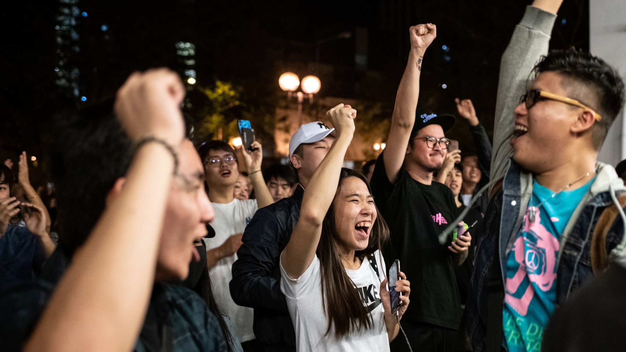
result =
[[131,140],[154,136],[177,147],[184,136],[180,103],[185,88],[165,68],[135,72],[118,90],[115,114]]

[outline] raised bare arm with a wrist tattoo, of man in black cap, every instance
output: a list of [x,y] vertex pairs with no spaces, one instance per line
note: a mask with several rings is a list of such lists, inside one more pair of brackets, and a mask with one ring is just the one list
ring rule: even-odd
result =
[[404,75],[398,87],[396,105],[391,115],[391,128],[387,137],[387,146],[383,153],[387,179],[394,183],[398,172],[404,163],[406,147],[415,123],[415,110],[418,107],[419,74],[422,70],[422,60],[426,48],[433,43],[437,36],[434,24],[418,24],[409,28],[411,52],[409,61],[404,69]]

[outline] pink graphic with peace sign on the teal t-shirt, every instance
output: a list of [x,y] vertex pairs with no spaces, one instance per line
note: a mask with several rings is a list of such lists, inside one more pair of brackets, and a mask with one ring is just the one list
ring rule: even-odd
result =
[[[513,244],[515,261],[520,264],[515,276],[506,278],[506,303],[521,316],[528,313],[528,305],[535,296],[535,286],[548,291],[557,278],[554,272],[557,264],[558,240],[541,225],[541,210],[537,209],[535,222],[529,222],[528,211],[524,215],[526,236],[520,236]],[[533,241],[534,240],[534,241]],[[513,296],[528,276],[530,284],[521,298]]]

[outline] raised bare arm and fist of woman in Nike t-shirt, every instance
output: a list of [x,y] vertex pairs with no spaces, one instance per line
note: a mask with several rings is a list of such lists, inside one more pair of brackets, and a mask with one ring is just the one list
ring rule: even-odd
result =
[[337,138],[304,191],[300,219],[282,252],[282,267],[292,279],[300,277],[315,258],[322,222],[337,192],[341,167],[354,135],[356,110],[339,104],[326,115],[331,119]]

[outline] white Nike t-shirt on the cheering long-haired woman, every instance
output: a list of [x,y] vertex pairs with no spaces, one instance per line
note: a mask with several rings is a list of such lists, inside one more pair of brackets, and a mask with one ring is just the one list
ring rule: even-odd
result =
[[280,290],[287,297],[287,307],[291,321],[294,323],[295,344],[298,352],[309,351],[389,351],[389,338],[385,326],[384,309],[382,308],[379,289],[381,280],[385,279],[386,271],[380,251],[374,254],[378,262],[379,276],[372,268],[367,257],[363,259],[357,270],[346,269],[367,306],[374,326],[362,328],[338,338],[334,328],[326,335],[328,318],[322,302],[321,267],[316,256],[307,270],[298,279],[290,279],[280,263]]

